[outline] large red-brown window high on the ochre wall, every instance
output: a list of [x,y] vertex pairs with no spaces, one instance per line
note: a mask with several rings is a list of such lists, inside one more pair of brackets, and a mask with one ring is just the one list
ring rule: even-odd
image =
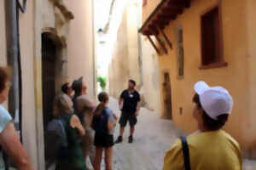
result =
[[[201,16],[201,53],[202,68],[212,65],[224,63],[221,56],[221,40],[219,26],[218,7],[213,8],[207,14]],[[223,65],[224,66],[224,65]]]

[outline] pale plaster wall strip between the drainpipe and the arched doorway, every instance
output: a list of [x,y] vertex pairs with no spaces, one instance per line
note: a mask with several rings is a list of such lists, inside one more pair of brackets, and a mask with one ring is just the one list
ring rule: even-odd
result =
[[22,135],[23,144],[34,167],[38,167],[36,107],[34,86],[33,1],[28,1],[26,13],[20,14],[20,56],[22,70]]

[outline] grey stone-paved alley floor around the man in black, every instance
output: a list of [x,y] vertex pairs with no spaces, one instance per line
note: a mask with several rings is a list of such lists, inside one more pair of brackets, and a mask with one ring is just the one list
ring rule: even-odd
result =
[[[110,99],[109,107],[119,115],[116,99]],[[119,126],[115,129],[115,138],[118,133]],[[160,119],[158,114],[143,108],[138,117],[134,143],[128,144],[127,128],[123,143],[114,145],[113,170],[161,170],[166,150],[181,135],[183,131],[171,121]],[[244,161],[244,165],[244,170],[256,170],[256,161]]]

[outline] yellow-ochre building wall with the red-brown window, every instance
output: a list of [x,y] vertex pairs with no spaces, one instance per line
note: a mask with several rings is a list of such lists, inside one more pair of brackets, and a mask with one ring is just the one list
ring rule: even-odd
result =
[[[201,66],[201,14],[214,7],[219,2],[221,24],[223,30],[224,61],[227,67],[199,70]],[[154,4],[148,3],[148,6]],[[156,6],[154,6],[155,8]],[[234,110],[225,129],[231,133],[247,153],[256,149],[256,116],[253,97],[255,86],[255,7],[253,0],[195,0],[191,7],[166,26],[165,32],[173,44],[168,48],[168,54],[159,56],[160,84],[164,81],[164,72],[170,73],[172,85],[172,115],[173,122],[187,132],[196,129],[192,116],[192,97],[195,94],[193,86],[197,81],[205,81],[209,85],[221,85],[230,91],[234,98]],[[148,7],[149,8],[149,7]],[[145,9],[145,7],[143,8]],[[151,13],[152,11],[148,12]],[[147,14],[148,14],[147,13]],[[184,78],[177,79],[177,26],[183,27],[184,48]],[[166,45],[167,47],[167,45]],[[160,94],[163,96],[162,86]],[[163,97],[161,108],[163,112]],[[183,113],[180,114],[180,108]],[[251,155],[252,156],[252,155]]]

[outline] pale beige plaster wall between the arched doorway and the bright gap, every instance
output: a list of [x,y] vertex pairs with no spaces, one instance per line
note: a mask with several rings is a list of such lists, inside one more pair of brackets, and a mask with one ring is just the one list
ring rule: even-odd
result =
[[96,99],[92,1],[68,1],[67,6],[75,16],[68,28],[68,77],[73,81],[83,76],[90,99]]

